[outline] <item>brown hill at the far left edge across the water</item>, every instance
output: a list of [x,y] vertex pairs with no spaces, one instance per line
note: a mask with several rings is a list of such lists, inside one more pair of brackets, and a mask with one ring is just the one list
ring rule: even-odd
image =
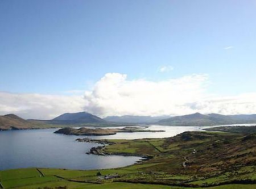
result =
[[17,130],[17,129],[32,129],[32,128],[47,128],[48,125],[38,123],[36,121],[24,120],[15,114],[7,114],[0,116],[0,131],[2,130]]

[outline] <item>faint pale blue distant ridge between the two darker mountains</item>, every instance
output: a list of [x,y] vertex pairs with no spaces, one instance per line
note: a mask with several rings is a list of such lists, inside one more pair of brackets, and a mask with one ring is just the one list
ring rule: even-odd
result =
[[108,116],[105,117],[104,120],[109,121],[111,123],[137,123],[137,124],[149,124],[156,123],[159,120],[166,119],[170,116],[132,116],[132,115],[124,115],[124,116]]

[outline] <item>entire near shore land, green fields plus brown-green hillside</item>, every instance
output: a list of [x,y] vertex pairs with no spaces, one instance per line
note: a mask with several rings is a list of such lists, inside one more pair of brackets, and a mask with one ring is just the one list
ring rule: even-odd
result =
[[[152,158],[107,170],[6,170],[0,171],[1,183],[4,188],[256,187],[255,134],[184,132],[171,138],[109,142],[112,145],[102,149],[105,153],[142,154]],[[101,177],[97,176],[98,171]]]

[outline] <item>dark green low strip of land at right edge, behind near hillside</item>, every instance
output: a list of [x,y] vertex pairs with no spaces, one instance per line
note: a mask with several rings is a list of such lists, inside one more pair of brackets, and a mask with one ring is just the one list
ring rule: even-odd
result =
[[232,126],[232,127],[212,127],[205,128],[205,131],[222,131],[230,133],[256,133],[256,126]]

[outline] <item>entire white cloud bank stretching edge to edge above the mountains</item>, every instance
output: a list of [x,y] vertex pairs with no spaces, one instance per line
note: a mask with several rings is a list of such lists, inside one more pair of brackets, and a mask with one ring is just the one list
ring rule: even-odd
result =
[[65,112],[112,115],[255,114],[256,93],[217,96],[207,93],[208,75],[192,74],[165,81],[128,79],[107,73],[84,95],[0,92],[0,114],[26,119],[52,119]]

